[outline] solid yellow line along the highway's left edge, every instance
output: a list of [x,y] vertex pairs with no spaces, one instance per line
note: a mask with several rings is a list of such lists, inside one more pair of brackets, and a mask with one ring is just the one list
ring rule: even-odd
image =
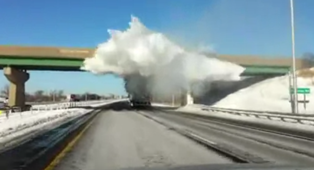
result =
[[64,158],[66,156],[66,154],[73,148],[73,146],[75,145],[75,143],[78,141],[78,139],[81,138],[81,136],[83,135],[83,133],[92,125],[92,123],[94,122],[95,117],[93,118],[93,120],[82,130],[79,132],[79,134],[77,134],[74,139],[72,139],[67,145],[66,147],[49,163],[49,165],[44,169],[44,170],[52,170],[59,162],[62,158]]

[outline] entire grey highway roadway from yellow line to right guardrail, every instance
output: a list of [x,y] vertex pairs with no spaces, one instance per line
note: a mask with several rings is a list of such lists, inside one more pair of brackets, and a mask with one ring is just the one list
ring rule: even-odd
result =
[[[115,105],[91,127],[55,169],[120,169],[231,164],[231,157],[179,134],[183,130],[250,163],[314,165],[314,141],[249,129],[160,109]],[[179,133],[178,133],[179,132]]]

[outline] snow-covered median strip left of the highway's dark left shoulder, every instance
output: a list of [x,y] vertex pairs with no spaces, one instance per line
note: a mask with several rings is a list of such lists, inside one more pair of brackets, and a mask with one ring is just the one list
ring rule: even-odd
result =
[[[97,103],[91,106],[98,107],[120,101],[122,100]],[[92,110],[94,109],[72,108],[51,111],[26,111],[22,112],[22,114],[12,113],[9,119],[1,115],[0,149],[18,141],[25,141],[31,136],[53,129]]]

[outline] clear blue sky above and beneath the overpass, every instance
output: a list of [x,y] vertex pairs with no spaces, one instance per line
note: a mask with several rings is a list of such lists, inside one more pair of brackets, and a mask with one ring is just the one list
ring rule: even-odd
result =
[[[187,46],[220,54],[291,55],[289,0],[0,0],[0,44],[95,47],[107,29],[128,27],[131,14]],[[313,52],[314,1],[295,1],[296,54]],[[27,91],[123,94],[122,80],[87,72],[30,71]],[[0,75],[0,87],[7,80]]]

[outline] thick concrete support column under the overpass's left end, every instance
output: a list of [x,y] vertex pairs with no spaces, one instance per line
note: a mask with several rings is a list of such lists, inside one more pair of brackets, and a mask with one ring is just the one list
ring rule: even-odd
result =
[[29,74],[25,70],[13,67],[5,67],[4,75],[10,81],[9,106],[25,106],[25,82],[29,79]]

